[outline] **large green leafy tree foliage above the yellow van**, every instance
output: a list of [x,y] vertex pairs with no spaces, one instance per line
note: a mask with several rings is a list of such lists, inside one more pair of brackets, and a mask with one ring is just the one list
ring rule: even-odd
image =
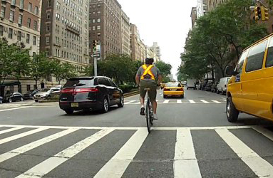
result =
[[239,59],[243,48],[267,35],[264,25],[251,17],[249,0],[230,0],[197,20],[185,44],[186,54],[181,60],[184,66],[178,68],[190,78],[202,78],[205,73],[225,68]]

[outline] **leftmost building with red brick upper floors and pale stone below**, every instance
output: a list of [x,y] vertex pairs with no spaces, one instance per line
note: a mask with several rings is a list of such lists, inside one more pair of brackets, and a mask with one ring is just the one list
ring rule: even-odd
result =
[[[41,0],[0,1],[0,38],[9,45],[16,44],[29,48],[30,56],[40,51]],[[1,95],[19,90],[19,85],[11,85],[14,78],[7,78],[8,87],[2,87]],[[20,79],[21,90],[26,93],[36,88],[34,80],[28,77]],[[5,83],[4,83],[5,85]]]

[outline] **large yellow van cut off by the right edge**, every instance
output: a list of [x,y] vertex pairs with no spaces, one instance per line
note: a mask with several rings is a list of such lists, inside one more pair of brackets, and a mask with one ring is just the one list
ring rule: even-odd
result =
[[239,112],[273,121],[273,33],[244,49],[227,86],[227,120]]

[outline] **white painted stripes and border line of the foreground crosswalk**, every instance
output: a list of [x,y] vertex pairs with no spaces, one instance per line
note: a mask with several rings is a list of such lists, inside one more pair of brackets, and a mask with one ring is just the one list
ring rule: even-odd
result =
[[[124,144],[118,148],[115,154],[113,154],[113,157],[109,157],[108,161],[103,165],[103,167],[98,169],[98,172],[94,172],[96,174],[95,177],[123,177],[123,174],[128,169],[129,165],[134,162],[135,155],[137,155],[140,148],[143,147],[143,143],[148,137],[148,131],[145,127],[65,127],[32,125],[0,125],[0,127],[11,127],[6,128],[6,130],[1,130],[0,136],[12,133],[14,131],[19,132],[20,129],[24,128],[34,128],[30,131],[22,131],[22,133],[17,135],[2,138],[0,140],[0,145],[34,135],[35,133],[43,130],[60,129],[59,132],[51,134],[47,137],[39,138],[36,141],[29,142],[26,145],[2,153],[0,155],[0,163],[10,159],[12,160],[16,156],[24,155],[26,152],[31,152],[42,145],[73,134],[78,130],[96,130],[95,134],[86,136],[86,138],[83,137],[83,140],[78,140],[69,147],[64,147],[64,149],[58,151],[58,153],[55,155],[43,159],[42,162],[34,165],[34,167],[29,167],[29,169],[24,170],[24,173],[20,174],[18,177],[46,177],[46,174],[51,172],[53,169],[56,169],[64,162],[69,162],[71,158],[75,157],[80,152],[83,152],[83,150],[85,150],[87,147],[93,146],[95,142],[98,142],[98,140],[101,140],[103,137],[109,135],[113,131],[134,130],[133,135],[128,137]],[[267,137],[269,140],[273,141],[273,132],[261,126],[153,127],[154,131],[152,130],[152,132],[160,130],[176,131],[176,142],[174,147],[175,156],[172,159],[173,177],[202,177],[202,170],[200,169],[199,165],[200,160],[198,160],[195,153],[195,142],[192,139],[191,134],[191,132],[194,130],[215,130],[219,137],[225,143],[227,143],[227,147],[230,147],[230,149],[236,153],[238,159],[241,159],[242,162],[244,162],[249,169],[251,169],[252,172],[257,175],[257,177],[273,177],[272,164],[254,152],[254,150],[250,148],[251,145],[246,145],[239,139],[239,137],[230,132],[231,129],[239,130],[246,128],[256,130],[257,134],[262,134],[263,137]],[[109,150],[111,150],[110,147]]]

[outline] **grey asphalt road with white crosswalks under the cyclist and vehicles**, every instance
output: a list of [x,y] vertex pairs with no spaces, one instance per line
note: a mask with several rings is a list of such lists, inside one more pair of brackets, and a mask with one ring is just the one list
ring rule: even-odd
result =
[[0,105],[0,177],[273,177],[272,122],[227,122],[223,95],[162,93],[149,135],[137,95],[106,114]]

